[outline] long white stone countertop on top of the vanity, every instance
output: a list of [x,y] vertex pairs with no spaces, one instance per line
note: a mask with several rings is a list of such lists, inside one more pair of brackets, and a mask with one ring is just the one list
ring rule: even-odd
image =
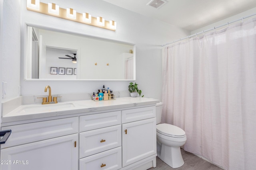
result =
[[70,102],[59,102],[58,104],[27,104],[21,105],[2,117],[2,124],[40,119],[46,117],[74,115],[78,113],[92,114],[95,111],[106,111],[110,109],[122,109],[144,105],[155,105],[159,100],[142,97],[124,97],[116,100],[104,100],[94,102],[92,100],[78,100]]

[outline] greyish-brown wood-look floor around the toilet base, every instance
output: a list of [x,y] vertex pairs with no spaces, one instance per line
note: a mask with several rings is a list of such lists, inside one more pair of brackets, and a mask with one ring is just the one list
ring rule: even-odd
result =
[[180,168],[172,168],[156,157],[156,168],[148,170],[223,170],[183,149],[181,149],[181,154],[185,163]]

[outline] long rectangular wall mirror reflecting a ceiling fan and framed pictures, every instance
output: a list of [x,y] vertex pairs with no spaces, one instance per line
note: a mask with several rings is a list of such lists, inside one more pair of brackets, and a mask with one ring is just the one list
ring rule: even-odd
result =
[[27,26],[25,79],[135,80],[134,45]]

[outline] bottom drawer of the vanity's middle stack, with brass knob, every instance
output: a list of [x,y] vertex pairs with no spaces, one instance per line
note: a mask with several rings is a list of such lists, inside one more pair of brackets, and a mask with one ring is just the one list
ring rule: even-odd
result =
[[80,170],[118,170],[122,168],[121,147],[80,159]]

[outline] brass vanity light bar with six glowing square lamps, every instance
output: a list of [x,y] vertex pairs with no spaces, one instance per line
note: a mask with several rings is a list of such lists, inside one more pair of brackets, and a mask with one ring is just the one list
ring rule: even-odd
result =
[[27,10],[116,31],[115,21],[105,21],[102,17],[95,18],[88,13],[81,14],[72,8],[60,8],[54,3],[45,4],[40,0],[27,0]]

